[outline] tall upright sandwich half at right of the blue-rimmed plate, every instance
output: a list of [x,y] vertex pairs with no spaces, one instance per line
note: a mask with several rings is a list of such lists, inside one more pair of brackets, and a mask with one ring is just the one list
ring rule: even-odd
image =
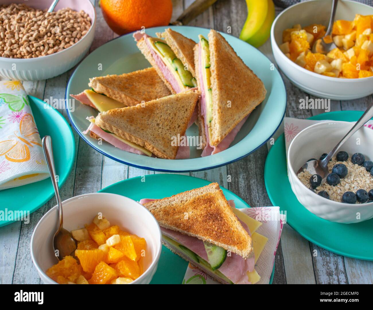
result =
[[266,97],[263,82],[215,30],[198,36],[195,72],[201,92],[198,121],[204,138],[202,156],[229,147],[249,114]]

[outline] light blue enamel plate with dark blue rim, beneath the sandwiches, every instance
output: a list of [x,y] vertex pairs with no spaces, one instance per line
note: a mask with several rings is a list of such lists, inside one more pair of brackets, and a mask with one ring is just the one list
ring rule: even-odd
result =
[[[191,26],[170,26],[185,37],[198,41],[198,35],[207,37],[209,29]],[[163,32],[164,27],[146,29],[146,33],[153,37],[156,32]],[[200,171],[220,167],[241,159],[263,145],[277,130],[285,113],[286,92],[285,86],[278,70],[271,61],[250,44],[222,33],[229,44],[232,45],[239,57],[242,58],[251,70],[263,81],[267,96],[264,101],[251,113],[250,117],[239,131],[231,147],[213,156],[201,157],[201,150],[191,147],[190,159],[169,160],[153,158],[121,151],[107,142],[98,144],[98,141],[84,135],[87,129],[88,116],[96,116],[97,111],[76,101],[74,110],[68,108],[70,121],[91,147],[123,164],[131,165],[145,170],[188,172]],[[87,56],[76,68],[66,88],[66,98],[70,94],[79,94],[88,89],[90,77],[105,76],[108,74],[122,74],[150,67],[150,64],[138,50],[132,34],[123,35],[97,48]],[[102,68],[102,70],[98,70]],[[232,68],[234,70],[234,68]],[[198,136],[198,127],[194,124],[186,132],[187,136]]]

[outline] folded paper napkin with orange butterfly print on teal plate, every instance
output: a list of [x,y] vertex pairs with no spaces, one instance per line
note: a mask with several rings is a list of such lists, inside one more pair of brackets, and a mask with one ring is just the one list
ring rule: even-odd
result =
[[41,139],[25,89],[0,81],[0,190],[49,177]]

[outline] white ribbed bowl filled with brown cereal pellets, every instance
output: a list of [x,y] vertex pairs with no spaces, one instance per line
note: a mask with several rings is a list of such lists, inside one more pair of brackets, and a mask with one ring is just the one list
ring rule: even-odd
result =
[[0,75],[44,80],[75,66],[94,38],[96,13],[90,0],[4,0],[0,5]]

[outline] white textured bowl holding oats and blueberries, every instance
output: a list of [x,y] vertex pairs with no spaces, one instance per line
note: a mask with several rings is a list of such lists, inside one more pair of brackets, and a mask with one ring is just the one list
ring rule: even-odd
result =
[[292,140],[287,157],[288,177],[298,201],[320,218],[345,224],[373,217],[373,130],[363,126],[341,146],[329,162],[325,184],[307,172],[296,172],[309,159],[325,156],[352,126],[325,121],[307,127]]

